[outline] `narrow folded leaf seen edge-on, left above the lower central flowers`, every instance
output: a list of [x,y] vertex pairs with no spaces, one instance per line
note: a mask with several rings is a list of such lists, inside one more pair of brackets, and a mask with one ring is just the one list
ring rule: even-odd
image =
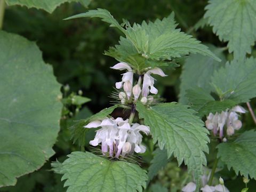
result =
[[69,128],[71,131],[71,139],[74,140],[74,143],[78,141],[78,145],[81,147],[84,147],[85,145],[85,135],[89,131],[89,129],[84,128],[85,125],[88,123],[95,121],[95,120],[101,120],[105,117],[107,117],[109,114],[111,114],[115,108],[117,108],[118,105],[102,109],[99,113],[94,114],[93,116],[86,118],[86,119],[80,119],[78,121],[74,121],[74,124]]

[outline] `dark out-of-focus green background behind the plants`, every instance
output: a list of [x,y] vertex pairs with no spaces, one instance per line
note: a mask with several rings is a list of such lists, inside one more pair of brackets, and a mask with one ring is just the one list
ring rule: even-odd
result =
[[[141,23],[143,20],[154,21],[156,18],[167,17],[172,11],[175,12],[175,19],[182,31],[190,33],[204,43],[211,43],[215,46],[224,47],[213,33],[211,27],[205,27],[197,31],[193,30],[195,23],[203,17],[204,7],[207,1],[203,0],[118,0],[118,1],[93,1],[89,9],[98,7],[107,9],[119,21],[122,18],[130,23]],[[42,10],[26,9],[26,7],[6,7],[3,29],[11,33],[20,34],[30,41],[35,41],[43,52],[43,59],[50,63],[54,69],[57,81],[62,85],[69,85],[71,92],[83,91],[83,96],[90,98],[91,102],[82,106],[75,116],[66,115],[61,120],[61,132],[58,142],[54,146],[56,154],[39,171],[25,175],[18,179],[17,186],[7,187],[3,191],[65,191],[63,182],[60,182],[61,175],[53,174],[50,162],[58,158],[63,161],[71,151],[79,150],[70,141],[70,132],[67,129],[74,119],[81,119],[97,113],[99,110],[109,107],[109,95],[114,90],[115,82],[120,81],[120,71],[110,69],[117,61],[103,52],[109,46],[118,43],[122,35],[115,28],[109,28],[108,24],[100,19],[75,19],[64,21],[62,19],[77,13],[86,12],[78,3],[65,3],[59,6],[52,14]],[[231,56],[226,52],[227,58]],[[182,65],[184,59],[179,60]],[[167,102],[178,101],[179,76],[181,68],[176,70],[165,69],[168,77],[157,78],[156,86],[159,94]],[[255,103],[255,101],[253,102]],[[255,106],[255,105],[254,105]],[[75,114],[75,107],[69,106],[69,111]],[[115,111],[115,115],[122,116],[122,111]],[[250,115],[244,117],[247,126],[253,125]],[[93,137],[93,132],[87,135],[87,141]],[[147,153],[142,156],[142,166],[148,167],[154,150],[151,138],[146,138]],[[86,150],[90,150],[87,145]],[[211,157],[209,157],[211,158]],[[228,172],[225,167],[221,175],[230,178],[227,186],[230,191],[240,191],[244,186],[241,177],[236,177],[233,171]],[[184,185],[190,176],[186,173],[186,167],[178,167],[175,161],[169,163],[164,170],[159,172],[153,182],[160,182],[169,187],[170,191],[179,191],[178,188]],[[252,189],[254,183],[250,183]],[[249,185],[249,186],[250,186]],[[254,188],[255,187],[255,188]],[[240,190],[238,190],[240,189]]]

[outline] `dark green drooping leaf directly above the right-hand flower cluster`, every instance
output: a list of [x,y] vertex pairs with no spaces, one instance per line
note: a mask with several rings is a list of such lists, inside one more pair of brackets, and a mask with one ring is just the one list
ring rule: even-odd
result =
[[186,97],[189,100],[191,108],[197,111],[197,116],[203,117],[210,113],[220,113],[226,109],[231,109],[237,103],[232,100],[215,101],[215,99],[202,88],[195,87],[194,89],[187,90]]

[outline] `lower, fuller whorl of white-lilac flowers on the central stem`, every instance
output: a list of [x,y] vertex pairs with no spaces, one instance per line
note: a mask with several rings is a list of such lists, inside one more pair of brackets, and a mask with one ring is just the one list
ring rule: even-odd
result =
[[129,119],[123,118],[105,118],[102,121],[93,121],[85,126],[85,128],[101,127],[97,130],[94,140],[90,141],[90,145],[98,146],[101,143],[103,155],[109,153],[110,157],[118,158],[136,153],[144,153],[146,147],[141,145],[142,135],[140,132],[149,134],[148,126],[138,123],[129,124]]

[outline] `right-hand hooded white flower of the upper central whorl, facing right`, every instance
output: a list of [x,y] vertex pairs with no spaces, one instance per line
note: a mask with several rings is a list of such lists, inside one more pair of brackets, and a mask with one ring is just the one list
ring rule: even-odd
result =
[[[142,97],[147,97],[149,92],[153,94],[157,94],[158,90],[154,87],[155,79],[151,77],[151,74],[160,75],[165,77],[166,75],[162,71],[162,69],[155,67],[154,69],[150,69],[144,74],[143,84],[142,84]],[[150,89],[149,89],[150,88]]]

